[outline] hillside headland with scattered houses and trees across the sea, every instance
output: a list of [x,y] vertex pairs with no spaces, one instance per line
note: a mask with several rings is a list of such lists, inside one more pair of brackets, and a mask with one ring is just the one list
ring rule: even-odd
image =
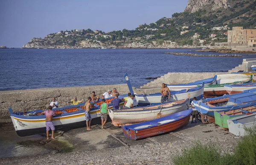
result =
[[256,27],[255,0],[189,0],[184,12],[135,30],[66,30],[33,38],[23,48],[175,48],[227,42],[233,26]]

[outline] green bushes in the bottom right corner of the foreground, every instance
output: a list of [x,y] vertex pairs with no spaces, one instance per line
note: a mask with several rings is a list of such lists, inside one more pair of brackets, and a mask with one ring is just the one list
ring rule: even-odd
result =
[[[233,153],[226,153],[216,143],[195,142],[174,157],[175,165],[256,165],[256,126],[245,128],[247,136],[235,146]],[[230,139],[231,140],[231,139]]]

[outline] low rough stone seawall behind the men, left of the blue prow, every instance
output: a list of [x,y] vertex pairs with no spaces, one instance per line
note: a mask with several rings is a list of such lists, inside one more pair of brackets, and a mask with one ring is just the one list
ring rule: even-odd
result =
[[129,92],[126,84],[0,91],[0,123],[11,122],[8,108],[21,112],[45,110],[52,101],[52,97],[56,97],[59,107],[64,107],[67,106],[67,101],[72,100],[74,96],[78,100],[86,101],[92,91],[100,97],[108,89],[113,88],[116,88],[120,94]]

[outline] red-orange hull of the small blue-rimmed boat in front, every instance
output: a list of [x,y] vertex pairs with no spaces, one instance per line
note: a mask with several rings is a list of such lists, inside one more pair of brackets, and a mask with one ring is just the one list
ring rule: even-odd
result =
[[[190,110],[186,110],[189,111],[190,113],[192,112],[192,109]],[[170,131],[174,131],[178,128],[184,127],[186,125],[189,124],[189,119],[190,119],[190,113],[188,113],[186,115],[186,117],[181,118],[182,116],[180,116],[181,119],[175,120],[174,122],[169,122],[166,124],[162,124],[162,125],[158,125],[159,121],[149,121],[146,122],[145,124],[156,124],[154,127],[151,128],[145,128],[142,130],[133,130],[133,129],[129,129],[126,127],[122,127],[122,131],[125,135],[125,137],[129,138],[129,139],[133,139],[133,140],[138,140],[138,139],[144,139],[147,137],[152,137],[155,135],[159,135],[159,134],[163,134],[166,132],[170,132]],[[172,116],[172,115],[169,115]],[[171,119],[171,118],[168,118]],[[162,120],[163,121],[163,120]],[[157,124],[158,123],[158,124]],[[140,123],[143,124],[143,123]]]

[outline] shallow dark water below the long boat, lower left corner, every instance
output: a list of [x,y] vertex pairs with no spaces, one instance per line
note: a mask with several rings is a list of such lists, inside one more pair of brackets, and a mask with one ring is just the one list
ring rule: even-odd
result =
[[12,124],[0,126],[0,158],[47,154],[51,151],[39,142],[41,135],[19,137]]

